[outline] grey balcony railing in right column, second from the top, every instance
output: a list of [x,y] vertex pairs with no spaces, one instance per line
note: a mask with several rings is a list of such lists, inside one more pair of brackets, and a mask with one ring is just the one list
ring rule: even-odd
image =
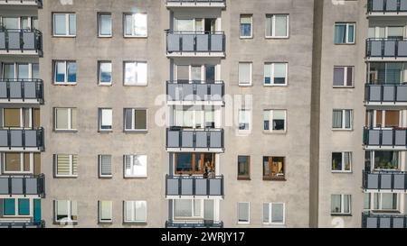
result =
[[407,39],[367,39],[366,57],[407,58]]

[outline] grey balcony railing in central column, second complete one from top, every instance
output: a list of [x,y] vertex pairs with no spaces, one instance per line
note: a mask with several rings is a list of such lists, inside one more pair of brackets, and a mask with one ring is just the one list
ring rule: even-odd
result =
[[224,84],[222,81],[216,81],[213,84],[197,81],[180,82],[166,82],[168,105],[224,105]]

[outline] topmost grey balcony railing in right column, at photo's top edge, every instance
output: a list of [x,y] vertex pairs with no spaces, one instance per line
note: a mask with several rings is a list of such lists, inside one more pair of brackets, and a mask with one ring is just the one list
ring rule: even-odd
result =
[[407,0],[368,0],[367,12],[368,14],[407,12]]

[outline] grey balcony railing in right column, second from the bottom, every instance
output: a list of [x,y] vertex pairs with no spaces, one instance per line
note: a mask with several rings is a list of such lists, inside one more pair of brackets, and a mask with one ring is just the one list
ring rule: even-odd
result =
[[363,187],[365,190],[402,190],[407,191],[407,173],[402,171],[364,171]]

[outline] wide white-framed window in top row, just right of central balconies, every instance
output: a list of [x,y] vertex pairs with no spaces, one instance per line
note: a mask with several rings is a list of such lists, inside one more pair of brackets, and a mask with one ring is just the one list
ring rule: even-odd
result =
[[266,38],[289,37],[289,14],[266,14]]

